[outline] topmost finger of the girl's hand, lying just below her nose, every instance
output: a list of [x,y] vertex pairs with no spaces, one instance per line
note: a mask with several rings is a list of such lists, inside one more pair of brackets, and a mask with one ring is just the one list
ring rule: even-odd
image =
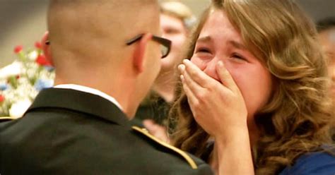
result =
[[183,64],[185,65],[185,71],[189,73],[189,76],[191,76],[192,79],[201,87],[208,87],[211,83],[214,82],[213,78],[207,76],[206,73],[201,71],[198,66],[192,64],[192,62],[188,59],[185,59]]

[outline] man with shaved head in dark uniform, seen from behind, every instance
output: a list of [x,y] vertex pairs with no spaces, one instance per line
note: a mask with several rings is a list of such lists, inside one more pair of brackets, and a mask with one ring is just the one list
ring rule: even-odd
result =
[[51,0],[42,42],[56,68],[25,116],[0,123],[0,174],[211,174],[130,119],[170,41],[155,0]]

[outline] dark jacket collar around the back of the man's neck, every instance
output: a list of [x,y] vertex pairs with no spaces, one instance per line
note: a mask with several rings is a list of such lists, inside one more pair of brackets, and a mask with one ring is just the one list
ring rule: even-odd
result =
[[67,109],[85,113],[89,116],[98,116],[120,126],[129,126],[130,128],[127,116],[119,107],[110,102],[110,100],[88,92],[64,88],[45,89],[37,95],[27,112],[35,110],[47,111],[47,109]]

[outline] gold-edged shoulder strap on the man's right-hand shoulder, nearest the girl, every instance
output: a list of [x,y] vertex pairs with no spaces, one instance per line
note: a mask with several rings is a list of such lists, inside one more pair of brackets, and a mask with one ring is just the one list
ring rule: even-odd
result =
[[131,128],[133,128],[135,131],[138,131],[139,133],[142,133],[143,135],[146,135],[146,137],[150,138],[151,140],[154,140],[159,145],[162,145],[163,147],[166,147],[167,149],[172,150],[173,152],[176,152],[178,155],[183,157],[187,161],[187,163],[189,163],[189,165],[192,167],[192,169],[198,169],[198,166],[196,165],[194,160],[191,157],[189,157],[189,155],[187,155],[186,152],[178,149],[177,147],[169,145],[168,143],[165,143],[165,142],[159,140],[158,138],[155,138],[155,136],[151,135],[146,130],[146,128],[139,128],[138,126],[132,126]]

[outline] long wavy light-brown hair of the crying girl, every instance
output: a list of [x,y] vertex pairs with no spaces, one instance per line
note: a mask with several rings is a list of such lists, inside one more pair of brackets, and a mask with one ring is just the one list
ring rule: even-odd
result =
[[[214,0],[189,43],[191,58],[211,9],[225,11],[250,52],[266,65],[276,87],[255,120],[261,137],[253,146],[256,174],[277,174],[302,154],[331,144],[334,124],[327,65],[312,21],[290,0]],[[170,111],[172,143],[201,157],[209,135],[196,123],[187,97]],[[224,124],[224,123],[223,123]]]

